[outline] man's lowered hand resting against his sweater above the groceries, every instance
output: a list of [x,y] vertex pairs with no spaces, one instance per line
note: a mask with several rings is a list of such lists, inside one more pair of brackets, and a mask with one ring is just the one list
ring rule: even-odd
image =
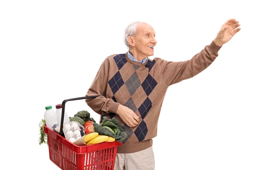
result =
[[139,124],[139,116],[126,106],[119,105],[116,114],[118,114],[122,121],[129,127],[136,127]]

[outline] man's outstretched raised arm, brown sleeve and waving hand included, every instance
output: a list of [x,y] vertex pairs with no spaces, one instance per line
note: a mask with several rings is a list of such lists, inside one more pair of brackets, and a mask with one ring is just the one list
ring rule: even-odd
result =
[[239,21],[235,19],[227,20],[210,45],[205,46],[205,48],[194,55],[192,59],[183,62],[169,62],[160,59],[157,63],[161,69],[161,75],[166,85],[181,82],[184,79],[189,79],[204,71],[204,69],[218,57],[218,51],[222,45],[240,31],[239,26]]

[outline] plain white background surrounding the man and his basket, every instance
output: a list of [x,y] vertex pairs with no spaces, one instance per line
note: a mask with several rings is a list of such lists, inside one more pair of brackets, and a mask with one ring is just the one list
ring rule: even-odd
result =
[[[1,153],[6,169],[58,170],[38,123],[45,106],[84,96],[103,60],[125,53],[134,20],[156,31],[154,57],[192,58],[236,18],[241,31],[197,76],[169,87],[154,138],[155,169],[255,170],[255,6],[253,1],[0,2]],[[70,116],[87,110],[67,102]],[[7,131],[6,130],[11,130]],[[4,153],[4,154],[3,154]]]

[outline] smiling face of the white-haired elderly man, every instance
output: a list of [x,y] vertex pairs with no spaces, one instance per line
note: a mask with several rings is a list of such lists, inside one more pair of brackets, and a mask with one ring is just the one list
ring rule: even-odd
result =
[[134,50],[137,55],[148,57],[154,55],[154,46],[157,44],[154,28],[146,23],[140,23],[134,36]]

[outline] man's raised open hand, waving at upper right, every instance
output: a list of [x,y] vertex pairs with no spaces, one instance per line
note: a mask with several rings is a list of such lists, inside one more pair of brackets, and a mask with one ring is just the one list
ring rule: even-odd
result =
[[238,28],[240,26],[239,21],[236,19],[229,19],[226,23],[224,23],[221,26],[220,31],[218,32],[216,38],[213,40],[213,42],[221,46],[228,42],[238,31],[241,30],[241,28]]

